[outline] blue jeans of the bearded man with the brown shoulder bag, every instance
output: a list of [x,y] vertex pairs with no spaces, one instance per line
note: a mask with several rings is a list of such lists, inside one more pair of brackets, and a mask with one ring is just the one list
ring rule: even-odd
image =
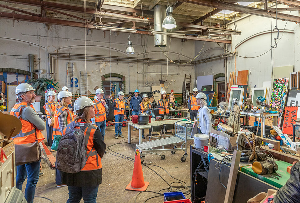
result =
[[25,199],[28,203],[33,203],[34,194],[36,192],[36,184],[39,181],[40,175],[40,163],[39,161],[23,164],[17,166],[17,177],[16,177],[16,187],[17,189],[22,191],[23,183],[27,178],[27,184],[25,189]]

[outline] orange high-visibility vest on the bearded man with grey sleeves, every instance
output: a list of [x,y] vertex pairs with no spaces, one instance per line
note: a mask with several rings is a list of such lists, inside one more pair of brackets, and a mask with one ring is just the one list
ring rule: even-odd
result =
[[[34,129],[33,124],[23,120],[20,116],[20,111],[24,111],[25,108],[33,108],[33,105],[31,103],[27,102],[19,102],[16,103],[15,106],[12,107],[12,110],[10,111],[10,115],[16,116],[20,119],[22,128],[19,134],[17,134],[14,138],[13,141],[16,145],[21,145],[21,144],[29,144],[33,143],[36,141],[36,137],[38,142],[41,142],[45,137],[41,133],[40,130]],[[35,111],[35,109],[34,109]],[[4,124],[2,124],[4,125]],[[36,131],[36,135],[35,135]]]

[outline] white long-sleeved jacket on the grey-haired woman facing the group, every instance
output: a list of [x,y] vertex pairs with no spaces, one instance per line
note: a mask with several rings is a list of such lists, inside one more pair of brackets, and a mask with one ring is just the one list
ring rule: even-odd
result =
[[210,111],[207,106],[202,106],[197,113],[197,126],[203,134],[209,135],[211,126]]

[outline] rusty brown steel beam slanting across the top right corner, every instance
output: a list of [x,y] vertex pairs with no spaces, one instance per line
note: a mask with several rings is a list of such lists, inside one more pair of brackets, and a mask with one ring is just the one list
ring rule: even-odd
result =
[[[232,10],[235,12],[241,12],[241,13],[248,13],[251,15],[261,16],[261,17],[270,17],[275,18],[276,12],[273,11],[265,11],[258,8],[248,7],[248,6],[242,6],[234,3],[228,3],[228,2],[221,2],[221,1],[210,1],[210,0],[180,0],[182,2],[192,3],[196,5],[202,5],[207,7],[214,7],[219,8],[223,10]],[[284,0],[284,1],[291,1],[291,0]],[[300,22],[299,16],[293,16],[288,15],[285,13],[278,13],[277,12],[277,19],[279,20],[288,20],[291,22]]]

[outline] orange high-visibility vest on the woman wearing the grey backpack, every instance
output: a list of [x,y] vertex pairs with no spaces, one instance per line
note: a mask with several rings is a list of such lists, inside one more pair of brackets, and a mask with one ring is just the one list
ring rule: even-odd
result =
[[[78,121],[76,121],[76,123],[78,123],[78,122],[80,123],[81,121],[82,120],[79,119]],[[73,122],[75,122],[75,121],[73,121]],[[85,122],[85,126],[86,125],[89,125],[89,126],[85,129],[85,151],[86,151],[86,154],[89,154],[89,152],[91,150],[92,150],[92,152],[89,154],[89,157],[85,163],[85,166],[81,169],[81,171],[92,171],[92,170],[97,170],[97,169],[102,168],[101,157],[95,150],[94,140],[93,140],[94,134],[95,134],[98,126],[91,125],[90,123]],[[75,127],[75,129],[79,129],[79,128],[80,127]],[[67,125],[64,129],[64,134],[69,129],[70,129],[70,125]]]

